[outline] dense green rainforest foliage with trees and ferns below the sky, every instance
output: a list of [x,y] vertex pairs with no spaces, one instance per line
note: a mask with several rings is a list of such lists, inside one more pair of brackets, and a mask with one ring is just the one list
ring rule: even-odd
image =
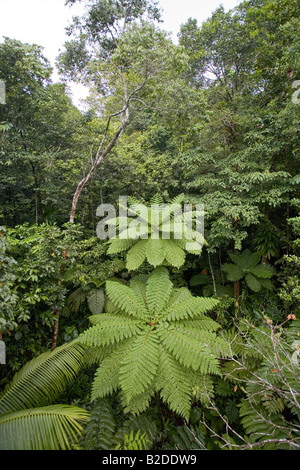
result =
[[[0,43],[0,448],[299,449],[299,2],[178,44],[159,2],[86,4],[60,83]],[[100,239],[120,196],[129,237]],[[163,203],[203,205],[199,246]]]

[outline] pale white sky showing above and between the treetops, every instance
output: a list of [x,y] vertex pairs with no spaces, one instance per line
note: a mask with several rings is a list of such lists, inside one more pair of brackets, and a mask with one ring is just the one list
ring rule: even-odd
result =
[[[190,17],[201,24],[220,4],[226,10],[234,8],[240,0],[159,0],[163,9],[162,28],[170,31],[176,40],[180,25]],[[72,16],[80,14],[82,6],[65,6],[65,0],[0,0],[0,42],[7,36],[44,47],[44,55],[54,66],[59,50],[67,36],[65,28]],[[0,57],[1,60],[1,57]],[[58,81],[54,72],[53,81]],[[72,87],[74,103],[84,95],[82,87]]]

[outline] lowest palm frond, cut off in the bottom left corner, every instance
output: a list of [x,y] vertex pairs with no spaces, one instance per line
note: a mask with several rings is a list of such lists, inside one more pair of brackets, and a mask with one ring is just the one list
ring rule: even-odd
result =
[[86,410],[67,405],[6,413],[0,417],[0,449],[69,450],[88,419]]

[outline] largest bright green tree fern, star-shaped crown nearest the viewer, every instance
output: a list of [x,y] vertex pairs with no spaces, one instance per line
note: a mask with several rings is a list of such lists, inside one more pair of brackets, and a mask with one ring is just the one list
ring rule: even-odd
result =
[[227,352],[216,333],[219,325],[205,315],[218,301],[174,288],[161,266],[146,283],[109,281],[106,293],[114,312],[92,317],[94,325],[78,339],[88,346],[113,346],[96,372],[92,399],[119,390],[126,412],[137,414],[157,391],[188,419],[195,385],[189,377],[219,375],[219,358]]

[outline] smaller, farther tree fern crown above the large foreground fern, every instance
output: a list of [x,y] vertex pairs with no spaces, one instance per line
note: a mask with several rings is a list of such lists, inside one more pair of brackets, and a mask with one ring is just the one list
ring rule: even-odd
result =
[[[202,213],[195,209],[183,213],[183,202],[184,195],[180,195],[166,205],[156,195],[150,206],[143,206],[145,213],[141,213],[140,204],[134,201],[129,215],[138,218],[130,219],[126,233],[121,231],[118,237],[109,240],[108,254],[127,251],[128,270],[138,269],[145,260],[154,267],[167,264],[180,268],[186,251],[201,254],[205,241],[200,234],[195,236],[192,224]],[[120,222],[116,218],[111,223],[120,227]]]

